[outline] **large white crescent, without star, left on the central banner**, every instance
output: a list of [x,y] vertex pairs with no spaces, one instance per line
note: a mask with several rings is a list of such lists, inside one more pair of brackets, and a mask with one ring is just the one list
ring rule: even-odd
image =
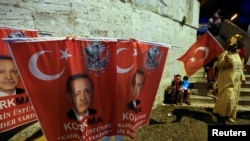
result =
[[32,73],[32,75],[34,75],[36,78],[41,79],[41,80],[55,80],[57,78],[59,78],[63,73],[65,68],[63,68],[63,70],[55,75],[47,75],[44,74],[43,72],[41,72],[38,67],[37,67],[37,60],[39,58],[39,56],[41,56],[42,54],[46,53],[46,52],[51,52],[51,51],[39,51],[35,54],[33,54],[29,60],[29,70]]

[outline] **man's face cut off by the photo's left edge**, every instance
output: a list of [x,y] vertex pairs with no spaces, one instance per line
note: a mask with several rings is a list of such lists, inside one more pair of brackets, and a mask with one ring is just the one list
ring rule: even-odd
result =
[[19,73],[12,60],[0,59],[0,91],[12,94],[19,81]]

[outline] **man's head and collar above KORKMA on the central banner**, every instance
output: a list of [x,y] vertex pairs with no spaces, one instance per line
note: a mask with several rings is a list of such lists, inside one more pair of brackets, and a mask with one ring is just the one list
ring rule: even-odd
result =
[[90,105],[94,94],[94,83],[86,74],[75,74],[66,82],[67,97],[73,108],[67,113],[69,119],[81,121],[85,116],[96,114]]

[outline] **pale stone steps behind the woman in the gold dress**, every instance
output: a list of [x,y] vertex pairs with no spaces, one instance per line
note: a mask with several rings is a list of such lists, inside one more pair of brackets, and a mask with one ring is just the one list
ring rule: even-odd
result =
[[[212,108],[216,98],[212,91],[207,90],[207,79],[203,74],[204,69],[202,68],[189,78],[192,84],[191,106]],[[244,71],[244,74],[247,82],[241,88],[238,110],[250,111],[250,74],[247,71]]]

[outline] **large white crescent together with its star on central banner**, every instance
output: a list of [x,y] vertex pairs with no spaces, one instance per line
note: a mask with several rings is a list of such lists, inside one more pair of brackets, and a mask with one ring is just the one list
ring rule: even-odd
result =
[[[40,71],[37,67],[37,60],[38,58],[45,54],[45,53],[49,53],[51,51],[38,51],[35,54],[33,54],[29,60],[29,70],[31,72],[32,75],[34,75],[36,78],[41,79],[41,80],[45,80],[45,81],[50,81],[50,80],[55,80],[58,79],[65,70],[65,67],[57,74],[54,75],[48,75],[43,73],[42,71]],[[68,57],[71,57],[72,55],[68,53],[68,50],[66,49],[65,51],[60,50],[61,52],[61,57],[60,59],[68,59]]]

